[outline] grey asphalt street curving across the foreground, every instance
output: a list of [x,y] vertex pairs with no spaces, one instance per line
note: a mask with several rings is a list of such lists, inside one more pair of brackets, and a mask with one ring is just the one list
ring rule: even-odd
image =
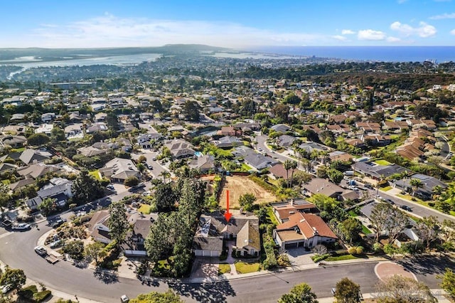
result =
[[[280,272],[255,277],[240,278],[214,283],[151,282],[147,285],[139,280],[97,274],[90,269],[80,269],[69,262],[50,265],[38,256],[33,248],[38,238],[50,230],[45,223],[39,230],[25,233],[4,233],[0,236],[0,260],[14,268],[21,268],[28,278],[42,282],[51,289],[67,294],[77,294],[79,298],[98,302],[114,302],[122,294],[136,297],[137,294],[151,291],[164,292],[171,287],[186,302],[277,302],[282,294],[298,283],[307,282],[318,297],[331,297],[330,290],[338,280],[349,277],[360,284],[362,292],[374,292],[378,277],[375,275],[377,262],[360,262],[350,265],[319,267],[311,270]],[[432,259],[434,260],[434,259]],[[444,262],[434,260],[432,271],[429,260],[403,262],[416,273],[430,288],[438,288],[434,275],[444,270]],[[450,264],[451,266],[451,264]],[[437,270],[435,270],[437,268]]]

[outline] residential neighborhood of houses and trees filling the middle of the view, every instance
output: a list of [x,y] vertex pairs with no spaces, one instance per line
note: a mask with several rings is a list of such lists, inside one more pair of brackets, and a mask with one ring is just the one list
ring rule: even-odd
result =
[[0,239],[36,235],[40,266],[142,284],[452,256],[455,107],[439,100],[453,83],[245,66],[210,81],[2,85]]

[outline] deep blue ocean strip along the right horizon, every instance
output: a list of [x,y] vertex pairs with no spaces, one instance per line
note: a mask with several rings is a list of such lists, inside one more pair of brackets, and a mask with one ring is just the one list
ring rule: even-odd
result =
[[346,60],[437,63],[455,61],[455,46],[262,46],[250,51]]

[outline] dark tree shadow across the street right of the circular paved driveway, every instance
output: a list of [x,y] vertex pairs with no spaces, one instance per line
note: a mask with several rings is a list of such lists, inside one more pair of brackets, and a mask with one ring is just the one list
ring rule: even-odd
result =
[[447,267],[455,269],[455,262],[444,255],[418,256],[412,259],[397,260],[396,262],[405,267],[405,270],[424,276],[444,274]]

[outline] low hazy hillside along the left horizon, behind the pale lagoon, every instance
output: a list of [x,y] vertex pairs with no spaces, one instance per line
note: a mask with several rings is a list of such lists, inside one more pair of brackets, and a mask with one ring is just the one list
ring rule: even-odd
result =
[[[228,48],[205,46],[202,44],[166,44],[165,46],[146,48],[0,48],[0,61],[15,60],[22,57],[40,57],[42,60],[65,60],[77,58],[97,58],[109,55],[137,55],[141,53],[200,53],[220,51]],[[23,60],[30,60],[24,58]],[[16,59],[17,60],[17,59]]]

